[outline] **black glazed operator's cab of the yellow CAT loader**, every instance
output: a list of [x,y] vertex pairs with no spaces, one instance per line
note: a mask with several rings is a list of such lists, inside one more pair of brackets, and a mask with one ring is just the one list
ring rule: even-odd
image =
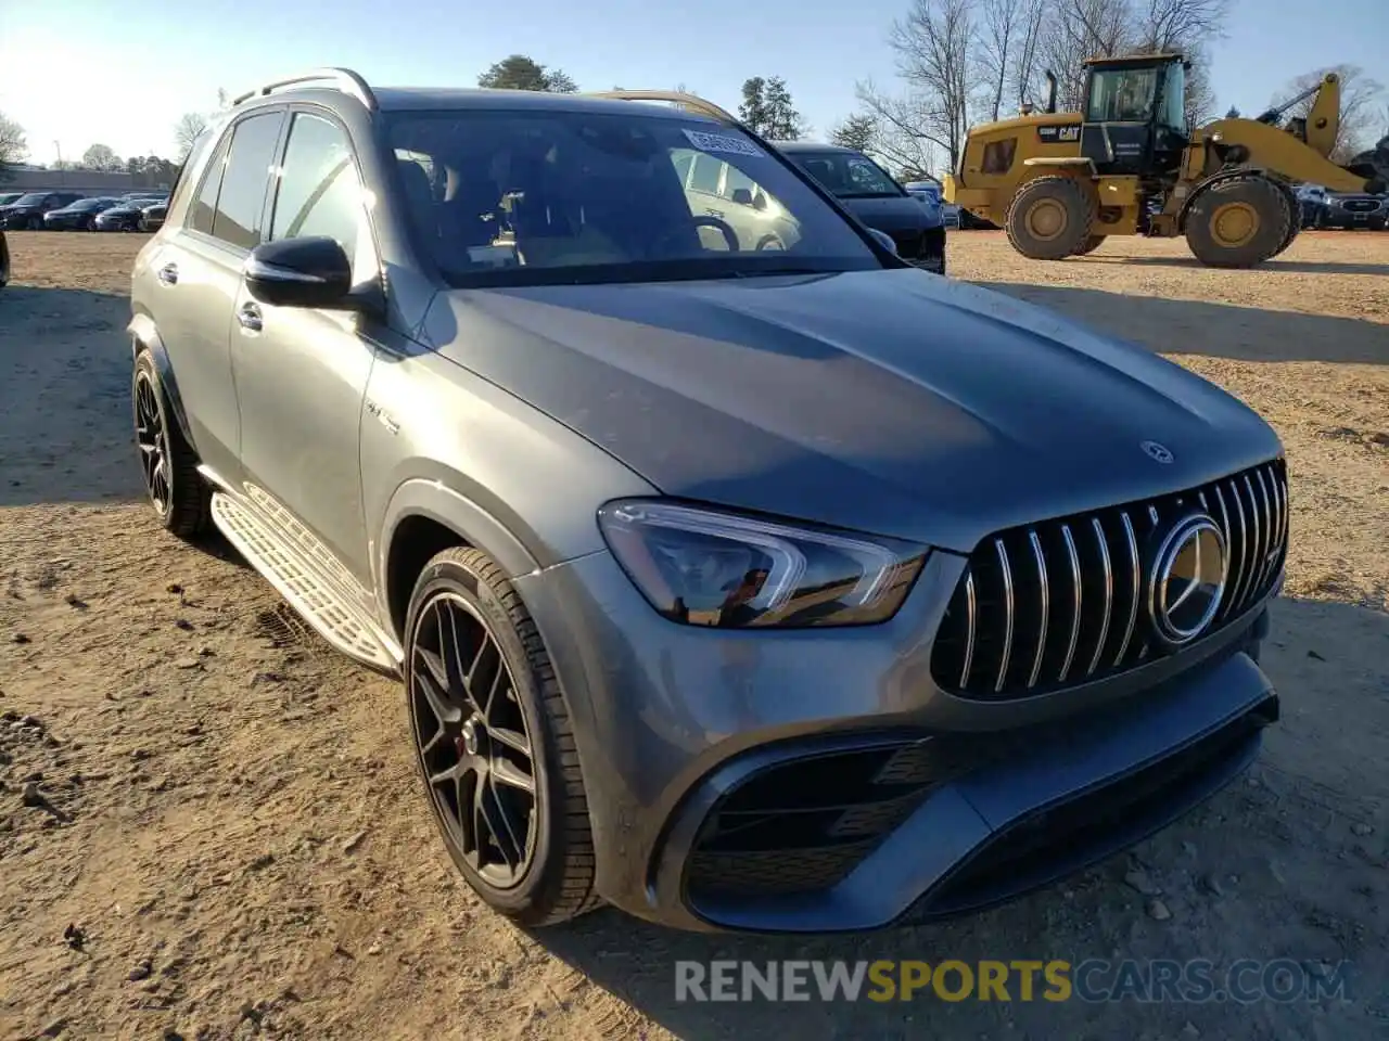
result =
[[1186,62],[1181,54],[1085,62],[1081,154],[1100,174],[1175,171],[1188,144]]

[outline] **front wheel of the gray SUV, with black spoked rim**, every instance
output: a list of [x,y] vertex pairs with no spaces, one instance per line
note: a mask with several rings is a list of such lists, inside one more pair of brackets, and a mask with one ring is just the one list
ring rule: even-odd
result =
[[[446,641],[439,629],[442,616],[451,619],[451,641]],[[494,652],[481,643],[486,638],[493,641]],[[497,672],[486,673],[482,662],[496,658],[506,665],[510,679],[486,700],[486,708],[481,698],[469,701],[472,695],[464,694],[461,682],[456,682],[464,670],[461,665],[456,672],[444,669],[440,675],[439,662],[447,655],[450,643],[458,648],[460,662],[465,657],[469,659],[469,673],[482,672],[482,686],[490,688],[497,679]],[[461,650],[464,647],[467,651]],[[476,647],[483,650],[475,651]],[[403,672],[425,798],[444,848],[464,880],[485,904],[526,927],[568,922],[596,906],[593,834],[569,713],[535,622],[490,557],[454,547],[425,565],[410,597]],[[447,691],[432,683],[443,676]],[[506,687],[514,691],[513,698],[503,697]],[[443,722],[439,704],[447,704],[456,718]],[[465,719],[463,713],[468,713]],[[524,731],[518,730],[518,723],[524,725]],[[474,729],[469,731],[469,727]],[[501,733],[508,734],[504,741],[492,736]],[[528,751],[518,751],[518,737],[524,738]],[[514,781],[494,780],[504,776],[494,766],[499,759],[510,765],[506,776],[514,779],[519,772],[531,779],[529,797],[518,795],[524,790]],[[465,761],[486,763],[486,773],[469,772],[476,768],[463,769]],[[450,775],[454,768],[458,769]],[[468,777],[472,777],[471,788]],[[519,815],[508,816],[508,808],[524,806],[526,798],[526,840],[525,849],[519,849],[515,841]],[[471,826],[461,824],[457,813],[465,802],[469,804]],[[479,815],[493,827],[497,820],[511,820],[489,831],[510,836],[511,852],[517,855],[503,856],[504,865],[486,863],[494,852],[501,854],[501,844],[485,843],[478,834]],[[474,829],[472,836],[467,834],[468,827]],[[499,881],[501,874],[510,877]]]

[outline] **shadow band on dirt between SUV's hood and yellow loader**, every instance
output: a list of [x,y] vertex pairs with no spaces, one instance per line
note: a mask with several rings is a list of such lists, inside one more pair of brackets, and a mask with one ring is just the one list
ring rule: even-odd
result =
[[978,280],[1163,354],[1389,365],[1389,326],[1358,318],[1168,300],[1101,289]]

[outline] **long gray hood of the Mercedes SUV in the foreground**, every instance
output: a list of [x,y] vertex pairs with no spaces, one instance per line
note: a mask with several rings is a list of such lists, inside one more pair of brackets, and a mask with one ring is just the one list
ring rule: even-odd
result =
[[454,290],[421,333],[665,494],[960,551],[1281,451],[1150,351],[910,269]]

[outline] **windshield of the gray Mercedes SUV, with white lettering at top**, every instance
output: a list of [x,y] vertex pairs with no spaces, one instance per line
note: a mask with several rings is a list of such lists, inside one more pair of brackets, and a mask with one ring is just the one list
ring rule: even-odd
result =
[[881,266],[740,130],[632,108],[392,117],[417,242],[460,286]]

